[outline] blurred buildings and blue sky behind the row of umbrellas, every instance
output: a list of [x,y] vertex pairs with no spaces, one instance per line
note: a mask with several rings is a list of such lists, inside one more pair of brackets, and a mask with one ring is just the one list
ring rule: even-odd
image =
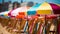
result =
[[18,8],[20,6],[33,6],[43,2],[60,4],[60,0],[0,0],[0,12]]

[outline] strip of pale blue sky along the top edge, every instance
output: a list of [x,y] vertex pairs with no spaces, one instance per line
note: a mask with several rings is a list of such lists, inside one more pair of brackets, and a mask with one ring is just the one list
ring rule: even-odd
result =
[[[9,0],[5,0],[5,2],[8,2]],[[21,0],[10,0],[13,2],[18,1],[20,2]],[[60,0],[23,0],[24,2],[36,2],[36,3],[43,3],[43,2],[49,2],[49,3],[56,3],[56,4],[60,4]],[[0,3],[2,3],[2,0],[0,0]]]

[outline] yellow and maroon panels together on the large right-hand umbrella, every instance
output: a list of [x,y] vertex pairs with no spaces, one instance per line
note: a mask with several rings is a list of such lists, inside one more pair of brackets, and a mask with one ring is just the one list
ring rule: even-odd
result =
[[37,14],[60,14],[60,6],[44,2],[37,9]]

